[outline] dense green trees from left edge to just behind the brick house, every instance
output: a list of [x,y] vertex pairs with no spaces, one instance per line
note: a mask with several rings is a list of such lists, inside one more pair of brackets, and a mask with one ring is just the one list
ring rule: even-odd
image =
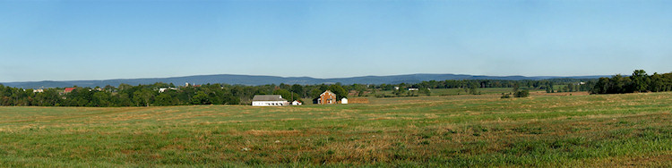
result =
[[[357,85],[356,85],[357,86]],[[349,88],[349,87],[346,87]],[[205,84],[176,87],[174,84],[155,83],[103,88],[73,87],[23,89],[0,84],[0,105],[36,106],[151,106],[151,105],[247,105],[254,95],[281,95],[289,101],[305,97],[319,97],[324,90],[332,90],[337,97],[348,97],[348,91],[340,85],[263,85],[244,86],[228,84]]]

